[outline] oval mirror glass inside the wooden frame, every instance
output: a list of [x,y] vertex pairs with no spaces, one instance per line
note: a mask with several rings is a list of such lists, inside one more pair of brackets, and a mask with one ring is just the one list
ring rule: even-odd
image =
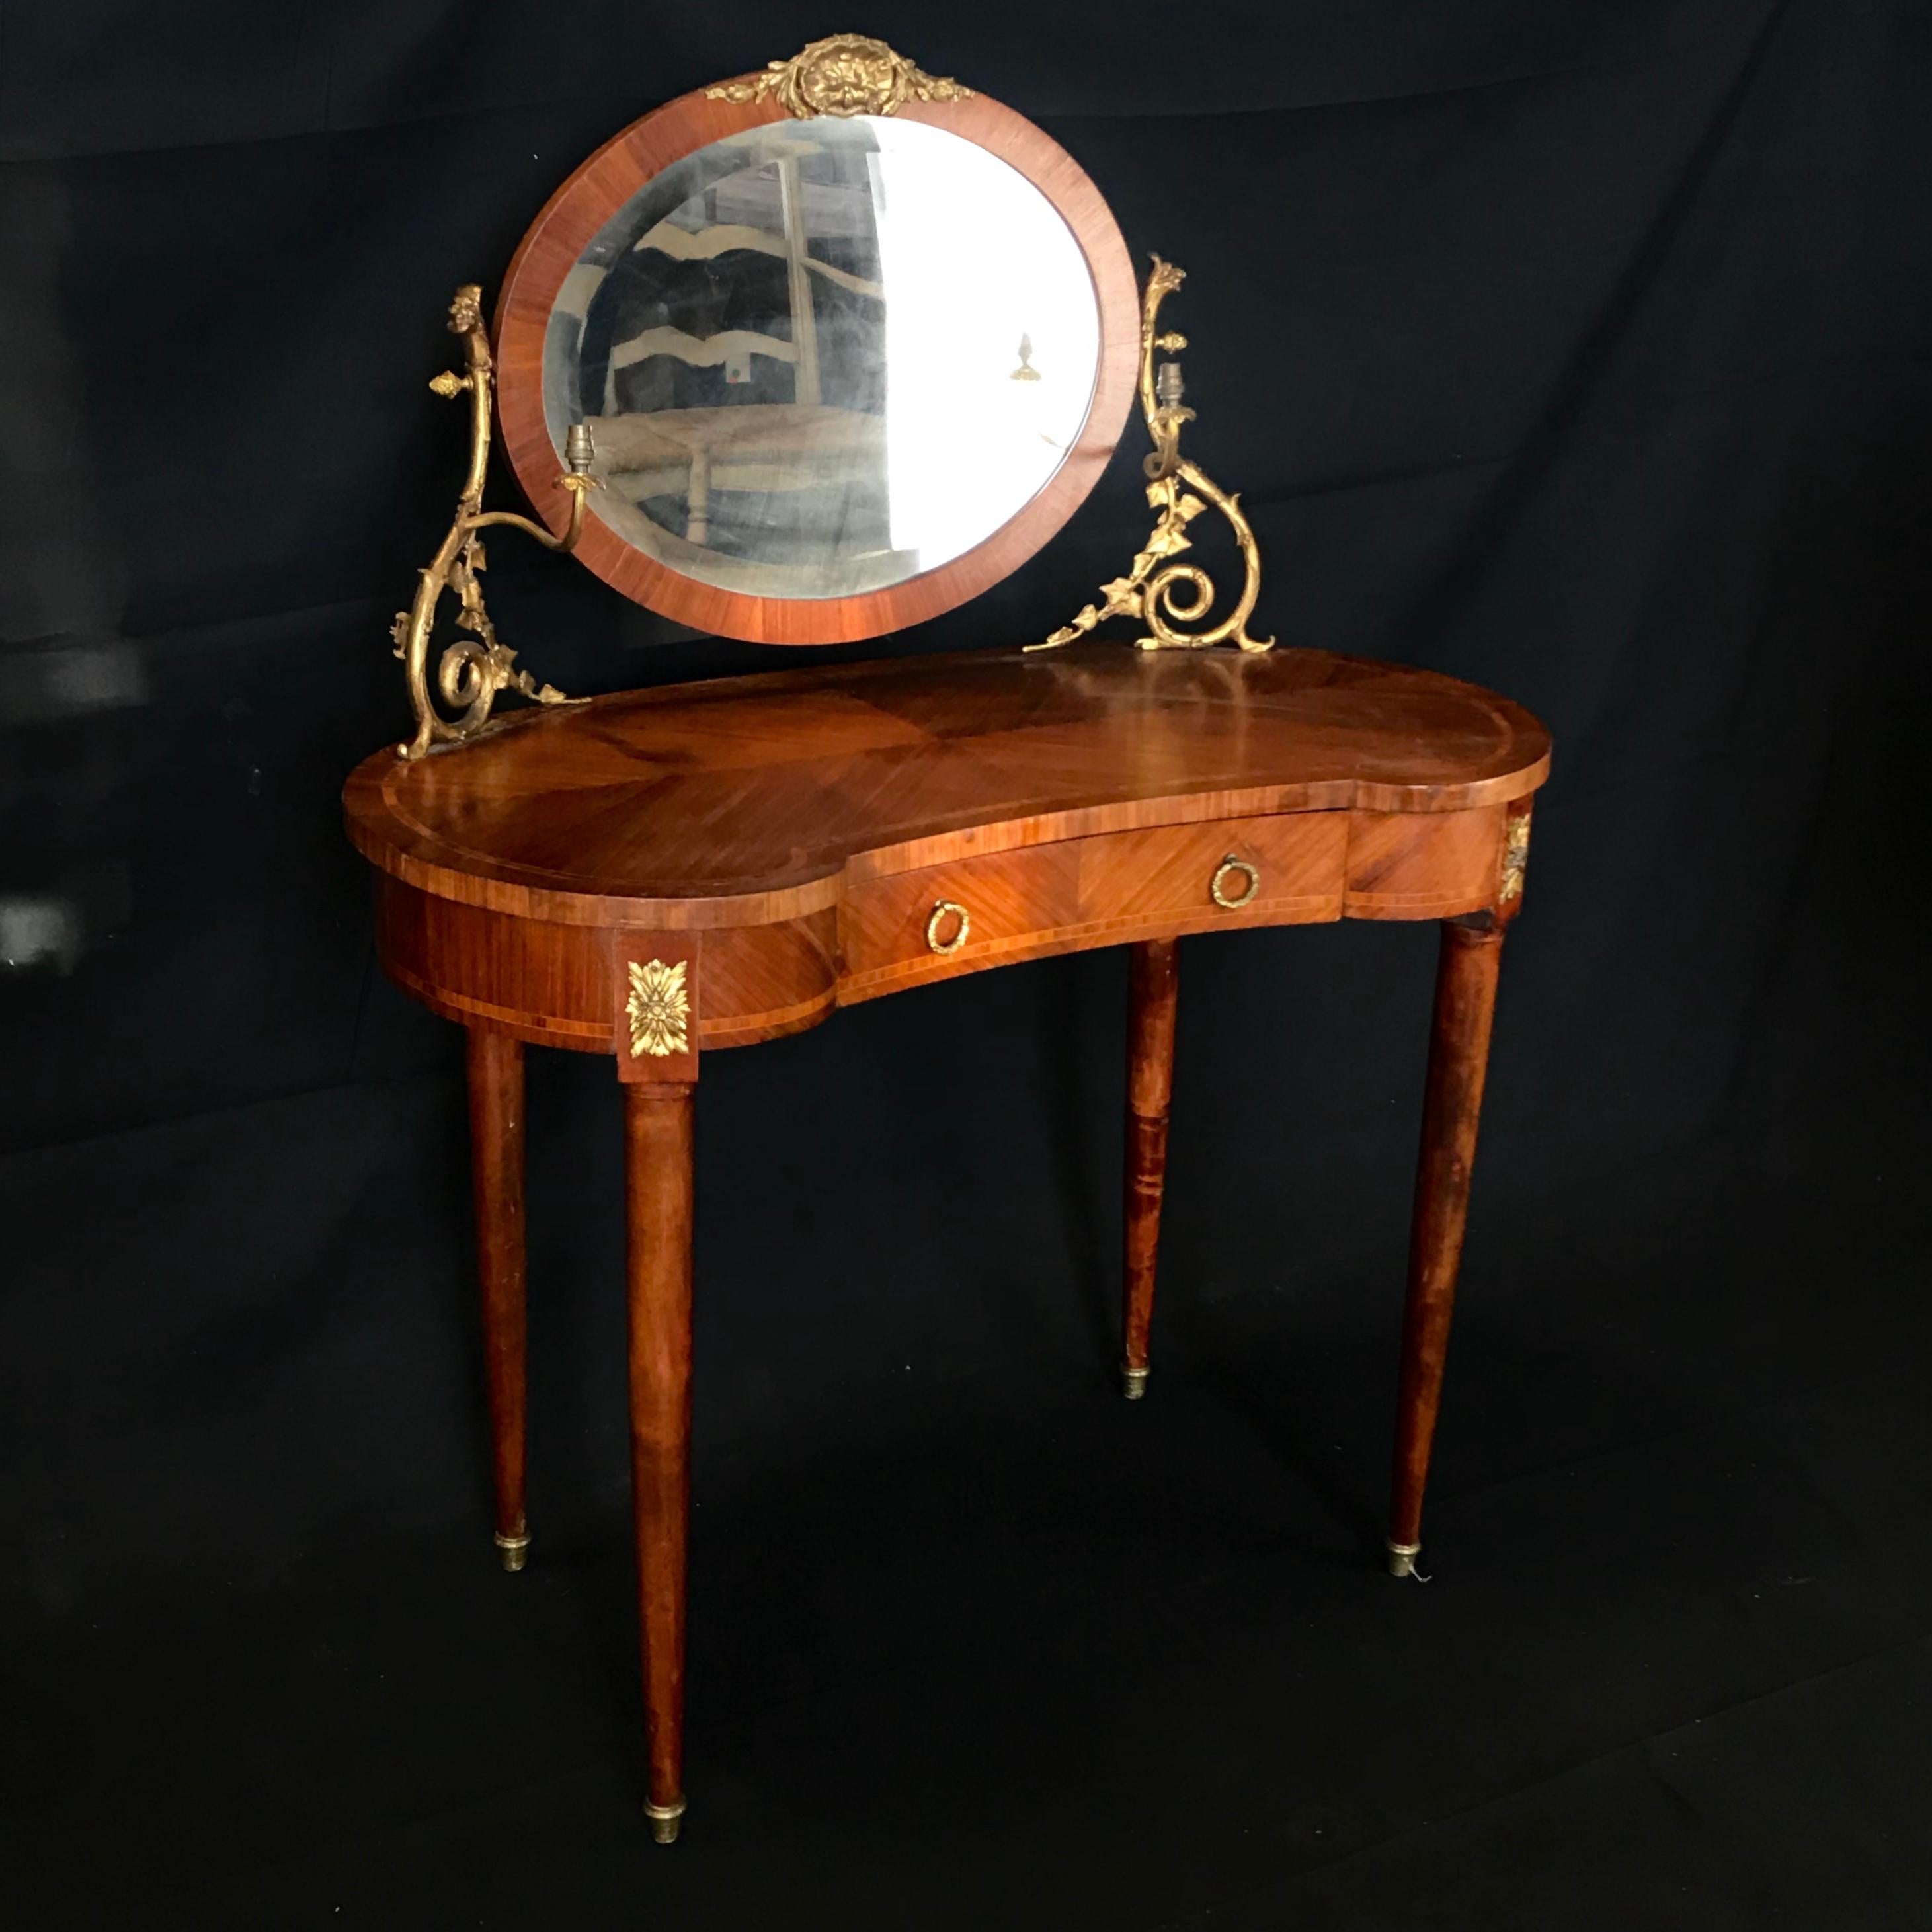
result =
[[960,135],[858,116],[647,182],[551,311],[543,406],[591,514],[759,597],[848,597],[981,543],[1088,417],[1094,280],[1059,211]]

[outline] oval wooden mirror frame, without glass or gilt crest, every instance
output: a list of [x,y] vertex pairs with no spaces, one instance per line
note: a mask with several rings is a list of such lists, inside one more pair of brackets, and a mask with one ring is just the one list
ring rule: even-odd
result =
[[[732,93],[750,93],[757,79],[744,77]],[[626,543],[593,512],[576,554],[634,603],[694,630],[753,643],[877,638],[952,611],[1010,576],[1074,514],[1107,468],[1126,425],[1140,363],[1140,296],[1113,211],[1072,155],[985,95],[912,99],[893,112],[956,133],[1005,160],[1072,230],[1099,307],[1099,367],[1080,435],[1059,469],[991,537],[916,578],[852,597],[750,597],[699,583]],[[543,412],[543,344],[564,276],[645,182],[713,141],[788,118],[775,91],[750,100],[719,99],[719,89],[680,95],[597,149],[551,195],[518,245],[497,303],[497,419],[524,495],[558,535],[570,524],[572,497],[558,483],[558,452]],[[985,267],[991,272],[993,265]]]

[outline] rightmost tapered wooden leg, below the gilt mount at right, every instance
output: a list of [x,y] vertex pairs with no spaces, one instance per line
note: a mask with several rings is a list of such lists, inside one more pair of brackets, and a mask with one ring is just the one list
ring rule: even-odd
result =
[[1395,1507],[1389,1517],[1389,1575],[1410,1577],[1422,1549],[1422,1488],[1443,1393],[1449,1314],[1468,1221],[1468,1177],[1476,1163],[1476,1121],[1490,1065],[1501,925],[1445,920],[1435,968],[1435,1028],[1422,1101],[1422,1159],[1408,1246],[1408,1304],[1403,1314],[1403,1379],[1395,1420]]

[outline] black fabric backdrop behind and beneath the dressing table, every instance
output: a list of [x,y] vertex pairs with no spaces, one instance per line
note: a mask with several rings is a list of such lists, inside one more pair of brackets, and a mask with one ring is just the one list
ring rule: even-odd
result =
[[[1260,626],[1493,684],[1557,765],[1428,1592],[1370,1551],[1432,933],[1184,949],[1140,1410],[1119,956],[707,1059],[665,1859],[614,1084],[533,1055],[508,1580],[460,1041],[375,972],[336,794],[404,726],[450,290],[612,129],[844,27],[1188,269]],[[1932,1924],[1924,0],[89,0],[0,62],[19,1922]],[[1138,454],[848,655],[1061,622]],[[570,690],[798,661],[491,562]]]

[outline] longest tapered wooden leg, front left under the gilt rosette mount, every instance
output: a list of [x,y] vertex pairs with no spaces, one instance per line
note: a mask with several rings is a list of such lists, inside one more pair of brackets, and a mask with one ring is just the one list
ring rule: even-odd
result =
[[630,1221],[630,1480],[649,1741],[645,1814],[684,1818],[684,1567],[692,1470],[692,1088],[624,1088]]

